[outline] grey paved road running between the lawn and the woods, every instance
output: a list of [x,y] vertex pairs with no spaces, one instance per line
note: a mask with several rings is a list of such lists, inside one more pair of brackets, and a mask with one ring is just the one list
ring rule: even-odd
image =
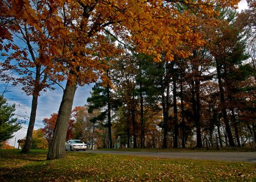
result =
[[197,159],[197,160],[214,160],[214,161],[231,161],[231,162],[255,162],[256,152],[245,153],[219,153],[219,152],[124,152],[124,151],[97,151],[86,150],[86,153],[101,154],[119,154],[119,155],[136,155],[150,156],[154,158],[171,158],[171,159]]

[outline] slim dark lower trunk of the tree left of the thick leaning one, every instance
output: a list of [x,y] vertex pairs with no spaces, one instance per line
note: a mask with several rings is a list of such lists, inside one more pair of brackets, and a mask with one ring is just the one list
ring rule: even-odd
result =
[[32,135],[33,135],[34,125],[36,121],[37,100],[38,100],[38,94],[33,95],[26,141],[22,148],[22,151],[21,151],[22,153],[27,153],[31,150]]

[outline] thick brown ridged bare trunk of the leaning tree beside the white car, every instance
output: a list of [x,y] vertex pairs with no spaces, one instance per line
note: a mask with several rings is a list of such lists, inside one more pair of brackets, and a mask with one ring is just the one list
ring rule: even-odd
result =
[[60,104],[58,118],[53,131],[52,144],[49,148],[47,160],[60,159],[65,157],[65,140],[68,131],[68,121],[74,101],[77,83],[67,81]]

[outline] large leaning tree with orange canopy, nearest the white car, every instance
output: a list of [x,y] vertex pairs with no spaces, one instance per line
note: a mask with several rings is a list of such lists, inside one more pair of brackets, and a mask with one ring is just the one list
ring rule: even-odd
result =
[[[39,46],[40,48],[42,46],[41,49],[44,52],[50,52],[50,54],[44,54],[47,56],[44,57],[45,59],[39,59],[39,63],[49,65],[54,72],[53,75],[61,72],[60,79],[67,79],[67,85],[47,159],[65,156],[63,146],[76,86],[95,81],[97,76],[106,70],[102,70],[102,65],[103,67],[106,65],[103,58],[117,52],[117,47],[103,38],[104,32],[108,31],[107,28],[117,39],[133,41],[138,45],[138,52],[153,55],[155,61],[161,61],[162,52],[166,53],[167,61],[172,61],[174,54],[182,54],[183,57],[190,55],[191,52],[184,51],[180,45],[201,44],[200,34],[197,31],[191,31],[191,27],[195,27],[191,22],[196,18],[191,12],[197,11],[198,16],[201,14],[212,16],[214,6],[236,6],[237,3],[237,0],[204,3],[58,0],[46,1],[47,7],[42,7],[42,13],[31,6],[30,1],[4,6],[7,9],[10,7],[9,10],[17,11],[20,17],[15,17],[18,20],[28,21],[36,29],[40,28],[38,26],[40,21],[34,18],[37,12],[42,15],[51,13],[52,19],[44,23],[50,35],[49,42],[46,41],[46,44]],[[182,13],[177,11],[180,4],[186,6],[188,11]],[[191,39],[191,36],[195,38]],[[54,54],[51,54],[53,52]]]

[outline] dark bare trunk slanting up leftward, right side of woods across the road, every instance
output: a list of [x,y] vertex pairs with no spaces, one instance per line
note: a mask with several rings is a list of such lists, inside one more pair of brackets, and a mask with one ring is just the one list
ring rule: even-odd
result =
[[228,143],[230,146],[235,146],[234,139],[231,133],[231,128],[229,125],[229,121],[227,118],[227,111],[226,111],[226,101],[224,96],[224,90],[222,86],[221,81],[221,72],[220,72],[220,63],[216,60],[216,68],[217,68],[217,77],[218,77],[218,83],[219,83],[219,92],[220,92],[220,102],[221,102],[221,111],[222,111],[222,117],[225,122],[225,129],[228,137]]

